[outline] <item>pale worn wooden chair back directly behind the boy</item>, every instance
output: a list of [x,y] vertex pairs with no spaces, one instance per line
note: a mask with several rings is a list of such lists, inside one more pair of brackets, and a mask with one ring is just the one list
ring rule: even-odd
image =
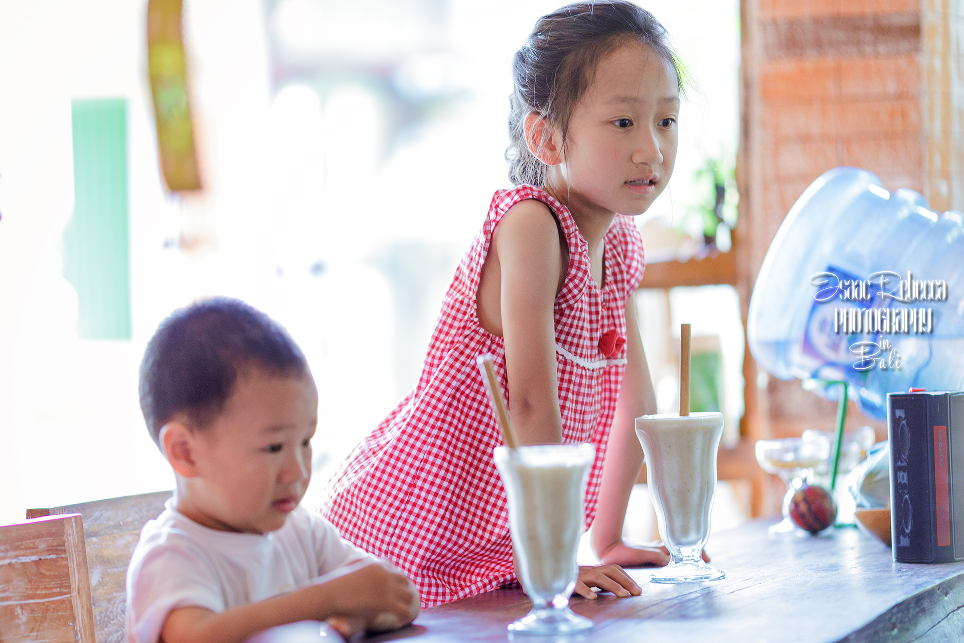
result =
[[[144,523],[164,511],[164,503],[171,495],[172,492],[157,492],[27,510],[27,518],[58,514],[83,517],[97,643],[123,643],[127,564]],[[2,637],[0,640],[7,641]]]

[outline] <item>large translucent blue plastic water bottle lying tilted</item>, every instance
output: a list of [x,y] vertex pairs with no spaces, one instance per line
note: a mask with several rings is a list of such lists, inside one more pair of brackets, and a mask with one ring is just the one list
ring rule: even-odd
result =
[[763,259],[747,320],[753,357],[784,380],[844,380],[878,419],[888,392],[964,389],[962,219],[865,170],[822,174]]

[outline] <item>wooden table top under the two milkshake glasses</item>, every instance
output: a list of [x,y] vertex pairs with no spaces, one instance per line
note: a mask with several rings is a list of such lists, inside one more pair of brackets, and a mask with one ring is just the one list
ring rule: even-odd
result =
[[[597,625],[560,641],[964,640],[964,562],[895,563],[890,548],[854,528],[770,539],[770,523],[749,522],[710,539],[712,564],[727,573],[722,580],[656,585],[648,581],[652,570],[628,570],[641,596],[574,598],[573,609]],[[412,626],[363,640],[505,641],[505,626],[529,606],[521,589],[496,590],[425,609]]]

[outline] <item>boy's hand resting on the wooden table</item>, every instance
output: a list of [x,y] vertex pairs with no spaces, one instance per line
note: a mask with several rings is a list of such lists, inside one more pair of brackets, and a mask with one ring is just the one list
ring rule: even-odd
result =
[[365,565],[325,585],[335,590],[332,611],[340,617],[335,629],[354,629],[361,619],[365,629],[394,630],[412,623],[418,614],[415,585],[386,564]]

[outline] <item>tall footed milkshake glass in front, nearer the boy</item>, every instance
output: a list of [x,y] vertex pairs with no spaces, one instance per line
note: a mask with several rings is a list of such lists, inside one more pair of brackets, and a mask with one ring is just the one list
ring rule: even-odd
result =
[[579,571],[583,498],[595,456],[592,444],[495,447],[522,589],[532,601],[532,610],[509,624],[510,631],[566,634],[593,627],[569,608],[569,597]]

